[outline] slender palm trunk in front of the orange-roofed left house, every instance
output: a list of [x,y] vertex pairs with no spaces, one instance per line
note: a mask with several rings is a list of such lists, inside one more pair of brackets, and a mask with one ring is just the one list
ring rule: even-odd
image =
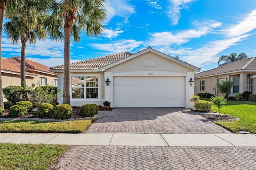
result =
[[22,87],[26,87],[26,76],[25,76],[25,51],[26,51],[26,40],[21,40],[21,54],[20,54],[20,84]]

